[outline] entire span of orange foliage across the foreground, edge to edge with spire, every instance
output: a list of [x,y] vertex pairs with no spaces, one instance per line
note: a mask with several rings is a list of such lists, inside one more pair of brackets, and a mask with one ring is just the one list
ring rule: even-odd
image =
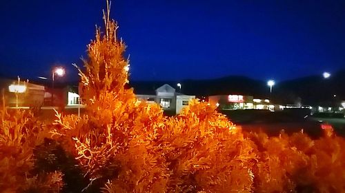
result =
[[2,111],[1,190],[345,192],[345,141],[332,131],[319,139],[302,132],[268,137],[242,132],[196,100],[175,117],[137,100],[126,89],[126,46],[109,13],[108,5],[105,32],[97,28],[79,69],[84,115],[58,113],[44,126],[30,113]]

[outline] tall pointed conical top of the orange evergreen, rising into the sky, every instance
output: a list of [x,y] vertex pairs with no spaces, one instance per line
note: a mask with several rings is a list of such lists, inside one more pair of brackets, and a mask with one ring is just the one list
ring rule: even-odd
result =
[[88,45],[88,59],[83,60],[85,72],[79,69],[83,84],[83,99],[88,104],[98,100],[101,93],[124,93],[128,83],[128,59],[124,58],[126,45],[117,39],[117,23],[109,19],[110,3],[107,12],[103,11],[105,32],[97,27],[96,38]]

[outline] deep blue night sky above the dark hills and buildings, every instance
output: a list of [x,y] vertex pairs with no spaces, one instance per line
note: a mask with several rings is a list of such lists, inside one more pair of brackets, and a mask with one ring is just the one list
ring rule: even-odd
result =
[[[1,1],[0,74],[82,65],[101,0]],[[287,80],[345,67],[345,1],[117,0],[132,80]]]

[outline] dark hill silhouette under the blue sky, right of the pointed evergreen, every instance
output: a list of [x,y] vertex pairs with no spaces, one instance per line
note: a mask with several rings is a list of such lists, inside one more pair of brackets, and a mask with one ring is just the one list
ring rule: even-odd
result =
[[[181,83],[181,91],[177,88],[177,83]],[[339,100],[345,100],[345,70],[333,73],[328,79],[320,75],[277,82],[273,87],[272,95],[265,81],[253,80],[245,76],[181,82],[130,81],[130,87],[133,87],[137,94],[154,94],[155,89],[163,84],[170,84],[186,95],[253,95],[255,98],[271,98],[282,104],[331,105]]]

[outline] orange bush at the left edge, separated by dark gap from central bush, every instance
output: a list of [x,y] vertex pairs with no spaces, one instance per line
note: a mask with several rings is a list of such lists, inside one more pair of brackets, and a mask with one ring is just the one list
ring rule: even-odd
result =
[[27,111],[0,111],[1,192],[59,192],[61,172],[33,172],[34,148],[48,137],[43,124]]

